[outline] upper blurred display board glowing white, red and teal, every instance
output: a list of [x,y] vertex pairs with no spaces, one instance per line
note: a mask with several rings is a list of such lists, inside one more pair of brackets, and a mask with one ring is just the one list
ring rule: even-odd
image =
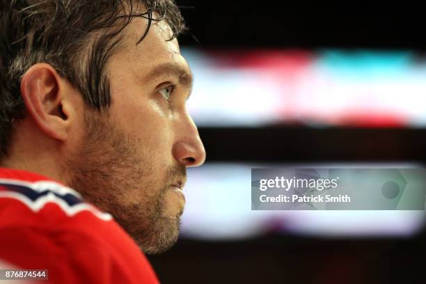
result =
[[200,127],[425,127],[426,63],[414,52],[183,48]]

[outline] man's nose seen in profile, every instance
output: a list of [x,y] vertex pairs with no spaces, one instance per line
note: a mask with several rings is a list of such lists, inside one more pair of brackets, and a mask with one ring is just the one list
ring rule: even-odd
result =
[[194,120],[187,115],[178,128],[178,139],[173,145],[173,156],[183,166],[201,166],[205,161],[205,149]]

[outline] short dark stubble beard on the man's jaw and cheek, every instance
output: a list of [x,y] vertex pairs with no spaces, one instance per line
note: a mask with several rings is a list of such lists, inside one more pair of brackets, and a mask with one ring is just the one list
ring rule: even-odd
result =
[[[162,182],[159,178],[157,184],[149,182],[146,177],[156,171],[137,155],[136,145],[142,142],[120,132],[102,114],[86,116],[86,138],[67,163],[72,176],[69,186],[84,200],[109,212],[145,253],[168,250],[178,240],[182,212],[166,216],[165,194],[171,181],[186,176],[186,169],[168,168]],[[152,190],[159,184],[163,186],[160,190]],[[138,196],[129,196],[132,192]]]

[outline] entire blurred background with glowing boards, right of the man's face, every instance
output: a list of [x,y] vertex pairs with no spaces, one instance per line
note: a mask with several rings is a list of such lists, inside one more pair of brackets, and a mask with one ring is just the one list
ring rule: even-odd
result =
[[188,171],[180,240],[149,256],[160,281],[426,283],[424,211],[251,210],[255,167],[424,168],[419,6],[178,5],[207,161]]

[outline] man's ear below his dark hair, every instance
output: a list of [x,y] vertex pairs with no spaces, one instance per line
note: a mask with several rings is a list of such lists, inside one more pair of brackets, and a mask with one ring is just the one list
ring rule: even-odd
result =
[[37,63],[22,77],[21,95],[28,115],[39,129],[53,139],[65,141],[69,122],[61,84],[63,81],[52,65]]

